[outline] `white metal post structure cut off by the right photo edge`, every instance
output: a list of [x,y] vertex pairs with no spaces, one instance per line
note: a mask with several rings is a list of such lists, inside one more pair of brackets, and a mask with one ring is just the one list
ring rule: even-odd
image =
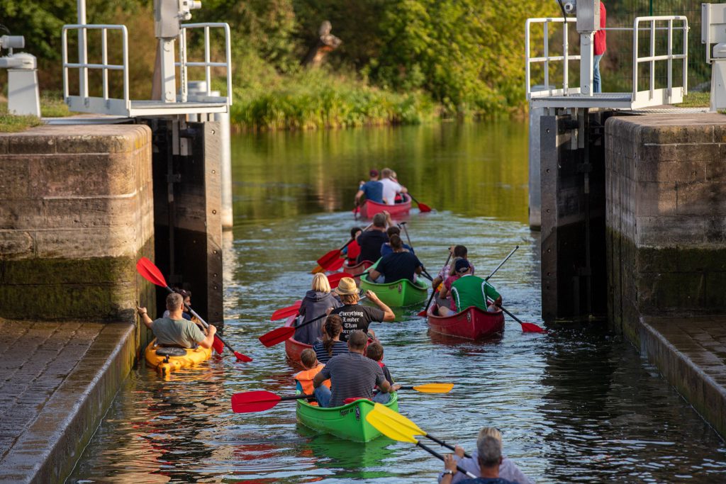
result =
[[[711,111],[726,108],[726,4],[701,4],[701,44],[711,64]],[[716,44],[711,55],[711,44]]]

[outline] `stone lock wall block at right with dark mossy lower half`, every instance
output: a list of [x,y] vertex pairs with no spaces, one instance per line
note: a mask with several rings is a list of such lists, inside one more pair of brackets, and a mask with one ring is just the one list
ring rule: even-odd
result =
[[608,316],[726,312],[726,116],[605,124]]

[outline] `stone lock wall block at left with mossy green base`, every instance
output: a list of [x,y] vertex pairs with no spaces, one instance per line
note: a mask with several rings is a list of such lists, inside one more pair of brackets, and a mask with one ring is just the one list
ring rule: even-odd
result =
[[133,322],[154,305],[135,270],[153,260],[151,152],[141,125],[0,134],[0,317]]

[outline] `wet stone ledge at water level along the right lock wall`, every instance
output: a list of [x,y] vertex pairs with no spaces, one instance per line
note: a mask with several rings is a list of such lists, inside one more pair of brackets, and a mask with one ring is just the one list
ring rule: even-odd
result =
[[640,350],[726,438],[726,316],[643,316]]

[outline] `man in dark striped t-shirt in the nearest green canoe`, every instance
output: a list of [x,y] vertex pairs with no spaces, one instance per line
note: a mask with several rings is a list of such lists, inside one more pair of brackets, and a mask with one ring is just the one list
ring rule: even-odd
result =
[[[362,331],[354,331],[348,337],[348,353],[333,356],[325,367],[315,375],[313,387],[318,405],[322,407],[343,406],[346,398],[368,398],[373,400],[373,387],[378,385],[380,393],[391,391],[383,369],[378,363],[366,358],[363,353],[368,337]],[[323,382],[330,379],[332,390]]]

